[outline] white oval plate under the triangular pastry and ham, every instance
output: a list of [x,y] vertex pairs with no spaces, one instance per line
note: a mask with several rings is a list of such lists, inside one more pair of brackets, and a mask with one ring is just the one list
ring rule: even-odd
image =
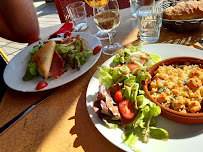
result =
[[[63,36],[63,34],[61,34]],[[75,35],[81,35],[82,38],[88,41],[86,44],[88,49],[93,49],[95,46],[102,46],[101,42],[96,36],[93,36],[88,33],[83,32],[72,32],[71,36]],[[41,42],[45,41],[47,39],[41,40]],[[42,77],[34,78],[31,81],[23,81],[22,77],[25,74],[26,68],[27,68],[27,61],[30,59],[29,51],[33,48],[33,46],[38,45],[39,42],[35,42],[34,44],[28,46],[24,50],[22,50],[20,53],[18,53],[14,58],[8,63],[8,65],[5,68],[4,71],[4,81],[5,83],[12,89],[17,91],[23,91],[23,92],[37,92],[38,90],[35,90],[37,84],[43,80]],[[87,72],[99,59],[101,55],[100,51],[96,55],[92,55],[88,61],[83,64],[80,68],[80,70],[74,70],[74,69],[68,69],[67,72],[65,72],[61,77],[58,79],[46,79],[46,82],[48,83],[48,86],[44,89],[41,89],[39,91],[44,91],[48,89],[52,89],[58,86],[61,86],[65,83],[68,83],[77,77],[81,76],[85,72]]]

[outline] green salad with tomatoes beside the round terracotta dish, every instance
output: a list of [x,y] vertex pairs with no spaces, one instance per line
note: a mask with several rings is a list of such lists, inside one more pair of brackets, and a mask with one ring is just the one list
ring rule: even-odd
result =
[[168,139],[168,132],[155,126],[161,108],[142,89],[142,81],[151,78],[147,69],[162,58],[142,52],[141,47],[132,46],[118,53],[113,67],[98,67],[100,86],[94,102],[99,118],[109,128],[121,126],[122,139],[133,150],[137,150],[134,145],[138,140],[147,143],[149,138]]

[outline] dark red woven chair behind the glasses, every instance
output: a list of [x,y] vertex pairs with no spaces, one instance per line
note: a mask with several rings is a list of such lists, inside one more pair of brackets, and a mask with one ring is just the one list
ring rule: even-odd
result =
[[[81,1],[81,0],[54,0],[61,23],[64,23],[69,20],[66,6],[71,4],[72,2],[78,2],[78,1]],[[130,7],[129,0],[118,0],[118,4],[119,4],[120,9]],[[93,16],[92,7],[90,7],[87,3],[85,3],[85,7],[86,7],[86,12],[87,12],[87,17]]]

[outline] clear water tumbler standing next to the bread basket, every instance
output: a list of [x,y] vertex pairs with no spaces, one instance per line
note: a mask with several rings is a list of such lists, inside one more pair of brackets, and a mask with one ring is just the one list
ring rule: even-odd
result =
[[162,25],[162,9],[156,6],[141,6],[136,13],[140,39],[148,43],[158,41]]

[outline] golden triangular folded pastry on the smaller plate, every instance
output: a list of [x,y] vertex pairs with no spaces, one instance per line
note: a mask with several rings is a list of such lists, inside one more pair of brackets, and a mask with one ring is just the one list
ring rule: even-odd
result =
[[49,75],[53,54],[55,50],[56,42],[49,40],[32,59],[37,63],[37,66],[41,70],[44,78],[46,79]]

